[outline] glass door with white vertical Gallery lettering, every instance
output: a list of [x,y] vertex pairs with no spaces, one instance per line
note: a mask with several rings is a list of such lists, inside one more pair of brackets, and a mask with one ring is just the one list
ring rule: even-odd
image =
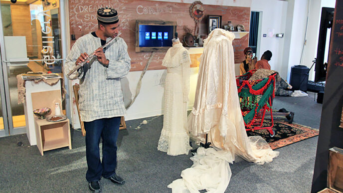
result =
[[4,92],[5,98],[5,103],[2,104],[6,106],[5,113],[8,117],[5,123],[9,128],[7,135],[14,135],[26,132],[23,105],[25,88],[17,80],[17,75],[52,72],[63,77],[61,9],[58,0],[18,0],[16,3],[1,0],[0,7],[1,69],[4,85],[1,93]]

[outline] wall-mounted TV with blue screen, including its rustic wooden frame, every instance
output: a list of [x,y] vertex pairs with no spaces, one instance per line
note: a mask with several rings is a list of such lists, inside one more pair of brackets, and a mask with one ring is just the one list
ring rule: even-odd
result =
[[176,21],[136,20],[136,52],[167,51],[175,32]]

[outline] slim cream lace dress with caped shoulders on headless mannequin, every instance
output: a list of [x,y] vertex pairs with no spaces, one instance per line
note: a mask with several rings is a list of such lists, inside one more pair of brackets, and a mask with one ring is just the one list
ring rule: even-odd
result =
[[157,149],[177,156],[188,154],[189,136],[187,134],[187,101],[189,93],[188,51],[181,43],[168,49],[163,66],[167,67],[165,81],[163,129]]

